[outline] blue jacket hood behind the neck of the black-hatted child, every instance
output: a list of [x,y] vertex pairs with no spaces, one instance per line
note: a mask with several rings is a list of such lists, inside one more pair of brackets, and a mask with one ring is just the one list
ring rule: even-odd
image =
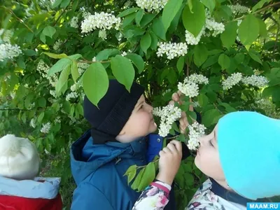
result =
[[90,130],[85,132],[71,147],[71,171],[76,184],[116,158],[132,158],[146,151],[146,144],[139,143],[143,139],[144,137],[127,144],[120,142],[94,144]]

